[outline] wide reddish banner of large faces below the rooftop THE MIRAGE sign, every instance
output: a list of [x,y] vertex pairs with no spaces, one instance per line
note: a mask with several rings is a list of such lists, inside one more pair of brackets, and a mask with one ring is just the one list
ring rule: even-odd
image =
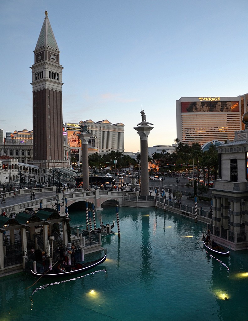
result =
[[[217,97],[215,97],[217,98]],[[219,98],[219,97],[218,97]],[[239,112],[238,101],[182,101],[182,113],[197,113],[197,112]]]

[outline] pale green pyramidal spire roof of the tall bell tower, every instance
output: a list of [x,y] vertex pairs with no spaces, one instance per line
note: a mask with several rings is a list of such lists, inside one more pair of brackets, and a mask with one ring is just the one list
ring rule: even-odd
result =
[[59,51],[48,16],[44,19],[35,50],[43,47],[53,48]]

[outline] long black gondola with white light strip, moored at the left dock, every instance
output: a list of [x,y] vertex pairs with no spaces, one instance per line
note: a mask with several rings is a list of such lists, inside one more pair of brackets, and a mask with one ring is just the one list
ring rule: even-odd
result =
[[64,278],[64,277],[70,277],[71,275],[74,274],[79,274],[79,273],[83,273],[85,271],[88,271],[90,269],[93,269],[95,266],[105,262],[106,260],[106,253],[103,257],[101,257],[98,260],[94,260],[91,262],[87,262],[87,263],[75,263],[74,265],[66,265],[66,272],[60,272],[57,268],[55,268],[52,271],[49,271],[47,273],[38,273],[38,272],[34,272],[33,270],[31,270],[31,274],[33,276],[36,277],[43,277],[43,278]]

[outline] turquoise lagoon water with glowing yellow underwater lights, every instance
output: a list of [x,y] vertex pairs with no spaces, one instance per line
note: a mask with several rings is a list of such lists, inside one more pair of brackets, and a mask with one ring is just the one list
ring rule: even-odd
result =
[[[96,213],[97,225],[100,214],[104,223],[116,220],[114,207]],[[85,227],[83,213],[69,215]],[[248,320],[247,251],[210,256],[197,243],[205,224],[170,212],[122,207],[119,216],[121,239],[102,239],[108,259],[86,275],[41,279],[27,290],[30,276],[1,280],[0,321]]]

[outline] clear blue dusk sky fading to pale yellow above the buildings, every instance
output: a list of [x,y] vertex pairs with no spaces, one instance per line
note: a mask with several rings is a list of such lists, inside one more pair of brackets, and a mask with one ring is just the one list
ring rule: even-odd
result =
[[63,121],[154,124],[148,146],[176,138],[176,100],[248,92],[247,0],[1,1],[1,118],[32,130],[31,65],[48,11],[64,67]]

